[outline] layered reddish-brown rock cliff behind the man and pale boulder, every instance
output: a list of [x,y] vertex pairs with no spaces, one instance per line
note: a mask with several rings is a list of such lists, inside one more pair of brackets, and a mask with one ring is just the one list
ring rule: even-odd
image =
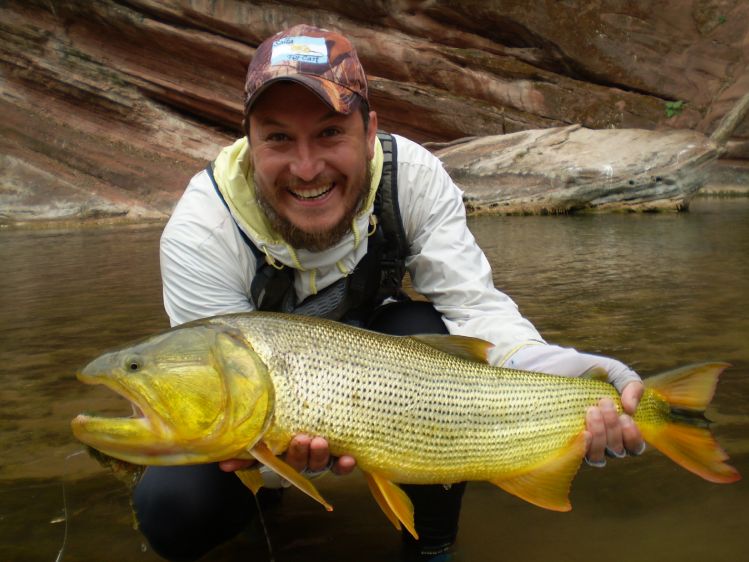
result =
[[709,134],[749,91],[748,21],[745,0],[6,0],[0,221],[168,214],[239,134],[254,48],[296,23],[346,33],[383,128],[426,142]]

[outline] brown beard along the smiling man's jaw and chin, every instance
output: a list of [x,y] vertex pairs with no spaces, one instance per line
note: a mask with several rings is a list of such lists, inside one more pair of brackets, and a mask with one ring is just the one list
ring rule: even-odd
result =
[[364,165],[364,177],[358,186],[352,186],[357,190],[356,199],[341,220],[328,230],[316,232],[307,232],[294,225],[289,219],[280,215],[273,207],[271,200],[266,197],[266,187],[261,185],[255,176],[255,200],[262,209],[273,230],[275,230],[291,247],[295,249],[304,249],[311,252],[321,252],[332,248],[340,242],[344,236],[351,232],[351,227],[357,213],[361,210],[362,204],[369,194],[372,184],[372,170],[369,163]]

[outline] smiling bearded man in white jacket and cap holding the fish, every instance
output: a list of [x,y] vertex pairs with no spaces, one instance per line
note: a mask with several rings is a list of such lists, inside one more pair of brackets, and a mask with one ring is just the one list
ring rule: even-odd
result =
[[[245,85],[245,136],[190,182],[161,239],[172,325],[229,312],[317,315],[391,334],[451,333],[494,344],[490,361],[580,376],[597,367],[630,414],[642,394],[622,363],[547,344],[492,282],[466,225],[462,194],[439,160],[377,131],[367,80],[342,35],[300,25],[257,49]],[[401,291],[404,273],[427,302]],[[587,460],[644,444],[610,400],[587,417]],[[299,435],[286,462],[304,474],[350,473],[325,439]],[[140,527],[172,560],[235,535],[255,503],[233,474],[247,463],[150,467],[135,489]],[[267,486],[280,485],[267,476]],[[419,541],[409,560],[449,560],[465,485],[404,486]],[[299,529],[299,533],[304,533]]]

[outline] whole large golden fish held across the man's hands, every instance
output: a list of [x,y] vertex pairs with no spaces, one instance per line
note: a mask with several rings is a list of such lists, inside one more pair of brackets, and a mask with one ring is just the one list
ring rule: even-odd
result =
[[[566,511],[585,454],[586,410],[616,389],[490,366],[491,344],[461,336],[388,336],[278,313],[217,316],[92,361],[79,374],[130,400],[131,418],[77,416],[78,439],[144,465],[255,458],[328,509],[277,455],[296,434],[351,455],[388,518],[416,536],[396,485],[486,480]],[[740,478],[698,417],[725,363],[645,382],[634,415],[645,440],[711,482]],[[257,471],[240,474],[257,491]]]

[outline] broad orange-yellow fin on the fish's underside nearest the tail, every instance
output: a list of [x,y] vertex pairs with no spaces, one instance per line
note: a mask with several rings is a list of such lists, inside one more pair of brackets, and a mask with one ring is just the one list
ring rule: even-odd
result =
[[570,487],[584,455],[585,435],[581,432],[543,464],[510,478],[491,480],[491,483],[539,507],[570,511]]

